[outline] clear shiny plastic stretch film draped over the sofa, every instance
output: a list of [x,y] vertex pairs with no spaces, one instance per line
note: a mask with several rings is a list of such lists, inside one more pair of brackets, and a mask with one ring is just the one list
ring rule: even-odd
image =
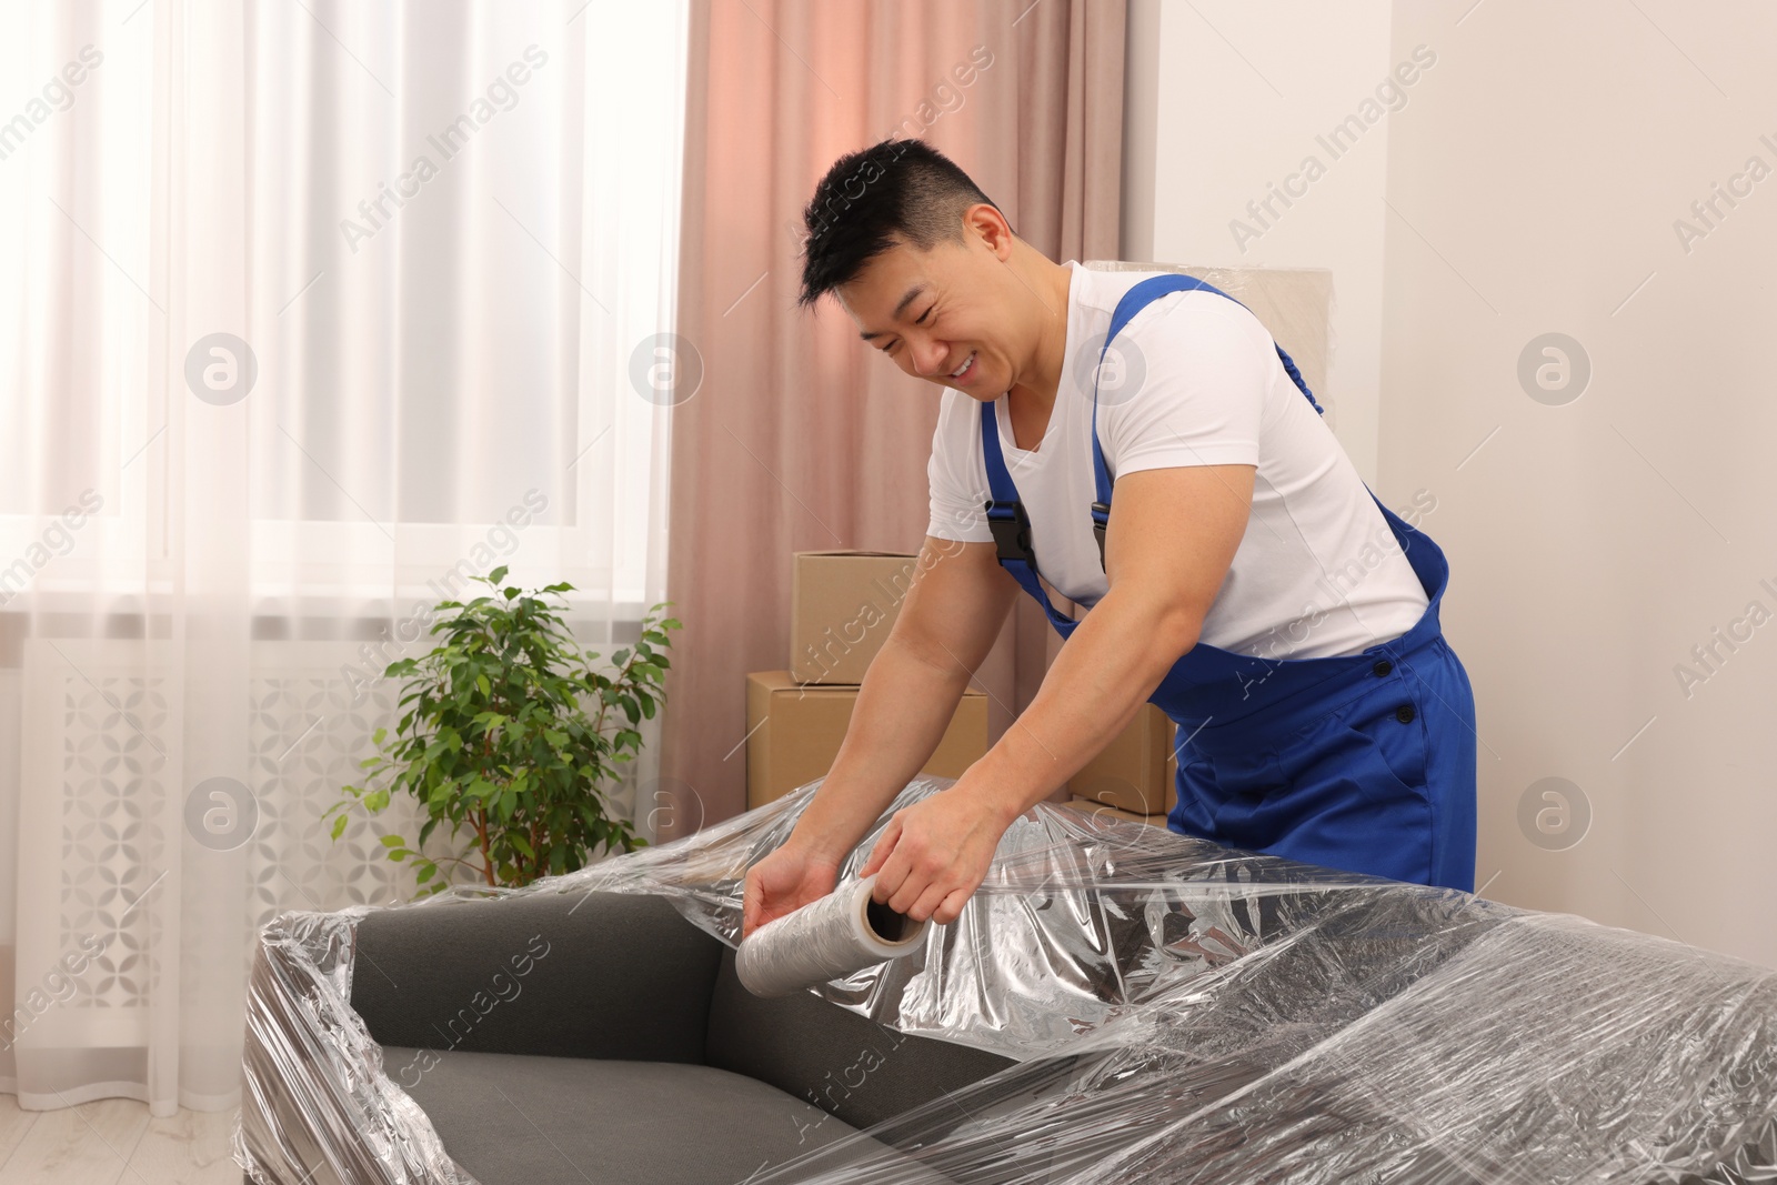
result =
[[[841,878],[944,785],[908,785]],[[515,892],[654,894],[734,945],[743,876],[812,789]],[[265,927],[236,1158],[265,1185],[464,1185],[348,1007],[363,915]],[[1016,819],[917,952],[814,991],[1015,1062],[753,1185],[1777,1180],[1777,972],[1070,808]]]

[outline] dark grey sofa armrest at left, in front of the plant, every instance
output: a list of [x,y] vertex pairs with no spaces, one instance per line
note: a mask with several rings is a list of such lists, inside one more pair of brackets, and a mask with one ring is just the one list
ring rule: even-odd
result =
[[721,950],[636,894],[379,910],[357,924],[352,1007],[379,1045],[700,1062]]

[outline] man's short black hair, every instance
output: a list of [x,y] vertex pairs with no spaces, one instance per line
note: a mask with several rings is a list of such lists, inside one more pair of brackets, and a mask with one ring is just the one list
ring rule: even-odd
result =
[[[963,211],[999,210],[967,172],[924,140],[887,139],[833,162],[803,211],[801,297],[810,306],[906,242],[920,251],[963,238]],[[1000,213],[1006,213],[1000,210]]]

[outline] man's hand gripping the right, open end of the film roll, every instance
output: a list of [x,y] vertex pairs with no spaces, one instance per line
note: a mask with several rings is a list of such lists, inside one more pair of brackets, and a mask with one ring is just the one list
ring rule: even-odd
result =
[[858,876],[876,874],[878,903],[945,926],[963,911],[1011,819],[965,776],[888,817]]

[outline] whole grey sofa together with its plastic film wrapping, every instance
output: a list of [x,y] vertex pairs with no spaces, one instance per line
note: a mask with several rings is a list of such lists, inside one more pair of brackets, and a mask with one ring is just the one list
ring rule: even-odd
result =
[[917,954],[755,998],[741,879],[812,791],[268,924],[247,1180],[1777,1180],[1772,968],[1048,805]]

